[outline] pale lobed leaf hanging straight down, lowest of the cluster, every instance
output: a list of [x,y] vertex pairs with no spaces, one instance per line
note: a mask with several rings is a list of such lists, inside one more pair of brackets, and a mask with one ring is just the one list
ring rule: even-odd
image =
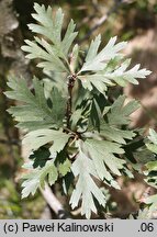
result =
[[93,161],[81,148],[81,142],[78,142],[78,149],[79,153],[71,166],[71,171],[75,177],[78,177],[78,180],[70,198],[70,204],[71,207],[75,208],[81,199],[81,214],[85,214],[87,218],[90,218],[91,212],[97,213],[93,196],[102,206],[105,205],[105,196],[91,177],[93,176],[99,179]]

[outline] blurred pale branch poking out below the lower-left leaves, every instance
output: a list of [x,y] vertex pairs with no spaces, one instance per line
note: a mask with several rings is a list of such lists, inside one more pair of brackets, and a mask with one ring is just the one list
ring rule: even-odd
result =
[[52,189],[48,187],[48,184],[45,184],[45,189],[41,189],[41,192],[49,205],[49,207],[54,211],[54,213],[57,215],[59,219],[69,218],[69,214],[64,210],[61,203],[57,200],[57,198],[54,195]]

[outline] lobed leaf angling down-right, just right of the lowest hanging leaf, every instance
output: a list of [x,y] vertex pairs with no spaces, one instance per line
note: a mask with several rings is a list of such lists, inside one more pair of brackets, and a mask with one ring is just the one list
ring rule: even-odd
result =
[[[87,139],[85,142],[85,149],[89,154],[89,157],[93,160],[96,170],[101,180],[106,180],[109,184],[113,187],[115,184],[114,179],[111,176],[111,172],[121,176],[120,170],[123,169],[125,161],[114,156],[114,154],[123,154],[121,145],[111,143],[108,140],[96,140]],[[108,171],[108,168],[111,172]],[[116,183],[116,188],[117,188]],[[115,188],[115,187],[114,187]]]

